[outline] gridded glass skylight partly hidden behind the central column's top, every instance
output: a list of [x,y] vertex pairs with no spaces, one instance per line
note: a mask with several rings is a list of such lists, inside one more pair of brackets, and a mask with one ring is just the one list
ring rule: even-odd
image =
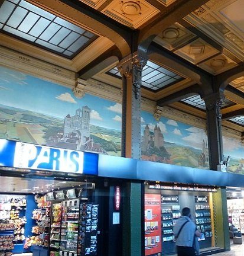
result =
[[[107,73],[109,75],[121,78],[121,74],[116,67],[110,69],[110,71]],[[162,89],[163,87],[174,84],[175,82],[181,81],[182,79],[183,77],[168,71],[165,68],[162,68],[150,60],[148,60],[147,65],[145,65],[142,70],[142,86],[148,89],[152,89],[153,91]]]

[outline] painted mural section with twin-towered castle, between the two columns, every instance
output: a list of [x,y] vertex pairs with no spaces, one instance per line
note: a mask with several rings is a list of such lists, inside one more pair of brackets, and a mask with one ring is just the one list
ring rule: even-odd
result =
[[142,159],[209,169],[209,149],[203,129],[151,113],[141,114]]

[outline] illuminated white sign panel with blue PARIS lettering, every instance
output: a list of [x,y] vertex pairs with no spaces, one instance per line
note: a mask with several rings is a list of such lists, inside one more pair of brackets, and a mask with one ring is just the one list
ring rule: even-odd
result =
[[83,173],[83,152],[16,142],[14,167]]

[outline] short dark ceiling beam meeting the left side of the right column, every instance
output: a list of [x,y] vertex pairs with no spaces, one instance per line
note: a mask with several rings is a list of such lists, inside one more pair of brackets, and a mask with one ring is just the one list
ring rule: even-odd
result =
[[166,105],[170,105],[175,103],[176,101],[183,100],[184,98],[200,94],[201,88],[198,84],[191,85],[190,87],[185,88],[184,90],[177,91],[174,94],[168,95],[164,98],[161,98],[157,101],[157,105],[160,107],[165,107]]

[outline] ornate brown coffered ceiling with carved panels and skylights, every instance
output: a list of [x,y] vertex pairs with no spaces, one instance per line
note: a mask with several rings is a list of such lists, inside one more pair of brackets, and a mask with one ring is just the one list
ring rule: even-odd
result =
[[[32,7],[21,19],[20,14],[14,15],[14,9],[9,11],[9,7],[6,8],[6,3],[12,7],[23,7],[24,4]],[[169,96],[177,99],[178,92],[198,84],[198,77],[202,75],[222,78],[222,75],[233,72],[235,75],[236,70],[244,72],[243,0],[0,0],[0,7],[3,47],[76,72],[80,79],[100,81],[113,87],[122,86],[121,79],[110,72],[116,72],[113,69],[119,58],[130,53],[135,41],[149,41],[148,56],[155,68],[147,66],[144,69],[142,96],[152,101],[163,102]],[[33,36],[30,33],[40,29],[34,29],[34,25],[40,20],[41,10],[48,13],[43,17],[46,20],[54,18],[31,41],[21,33]],[[14,23],[11,15],[19,20],[15,19]],[[35,17],[37,21],[28,24],[29,27],[25,25],[23,31],[23,20],[28,17]],[[56,24],[56,18],[63,23],[58,21]],[[51,24],[63,37],[57,39],[54,30],[50,38],[47,32],[45,36],[44,31],[50,30]],[[17,30],[20,31],[18,35]],[[86,39],[89,35],[92,35],[92,40],[82,44],[81,37]],[[41,41],[41,45],[43,38],[45,44]],[[80,48],[74,47],[78,38]],[[62,49],[62,54],[51,47]],[[165,82],[167,79],[171,80]],[[235,120],[244,116],[243,75],[230,81],[225,95],[223,124],[244,132],[243,122]],[[195,98],[199,102],[199,97]],[[169,103],[171,107],[198,117],[205,114],[203,105],[193,102],[194,97],[189,100],[186,95],[180,101],[173,100]]]

